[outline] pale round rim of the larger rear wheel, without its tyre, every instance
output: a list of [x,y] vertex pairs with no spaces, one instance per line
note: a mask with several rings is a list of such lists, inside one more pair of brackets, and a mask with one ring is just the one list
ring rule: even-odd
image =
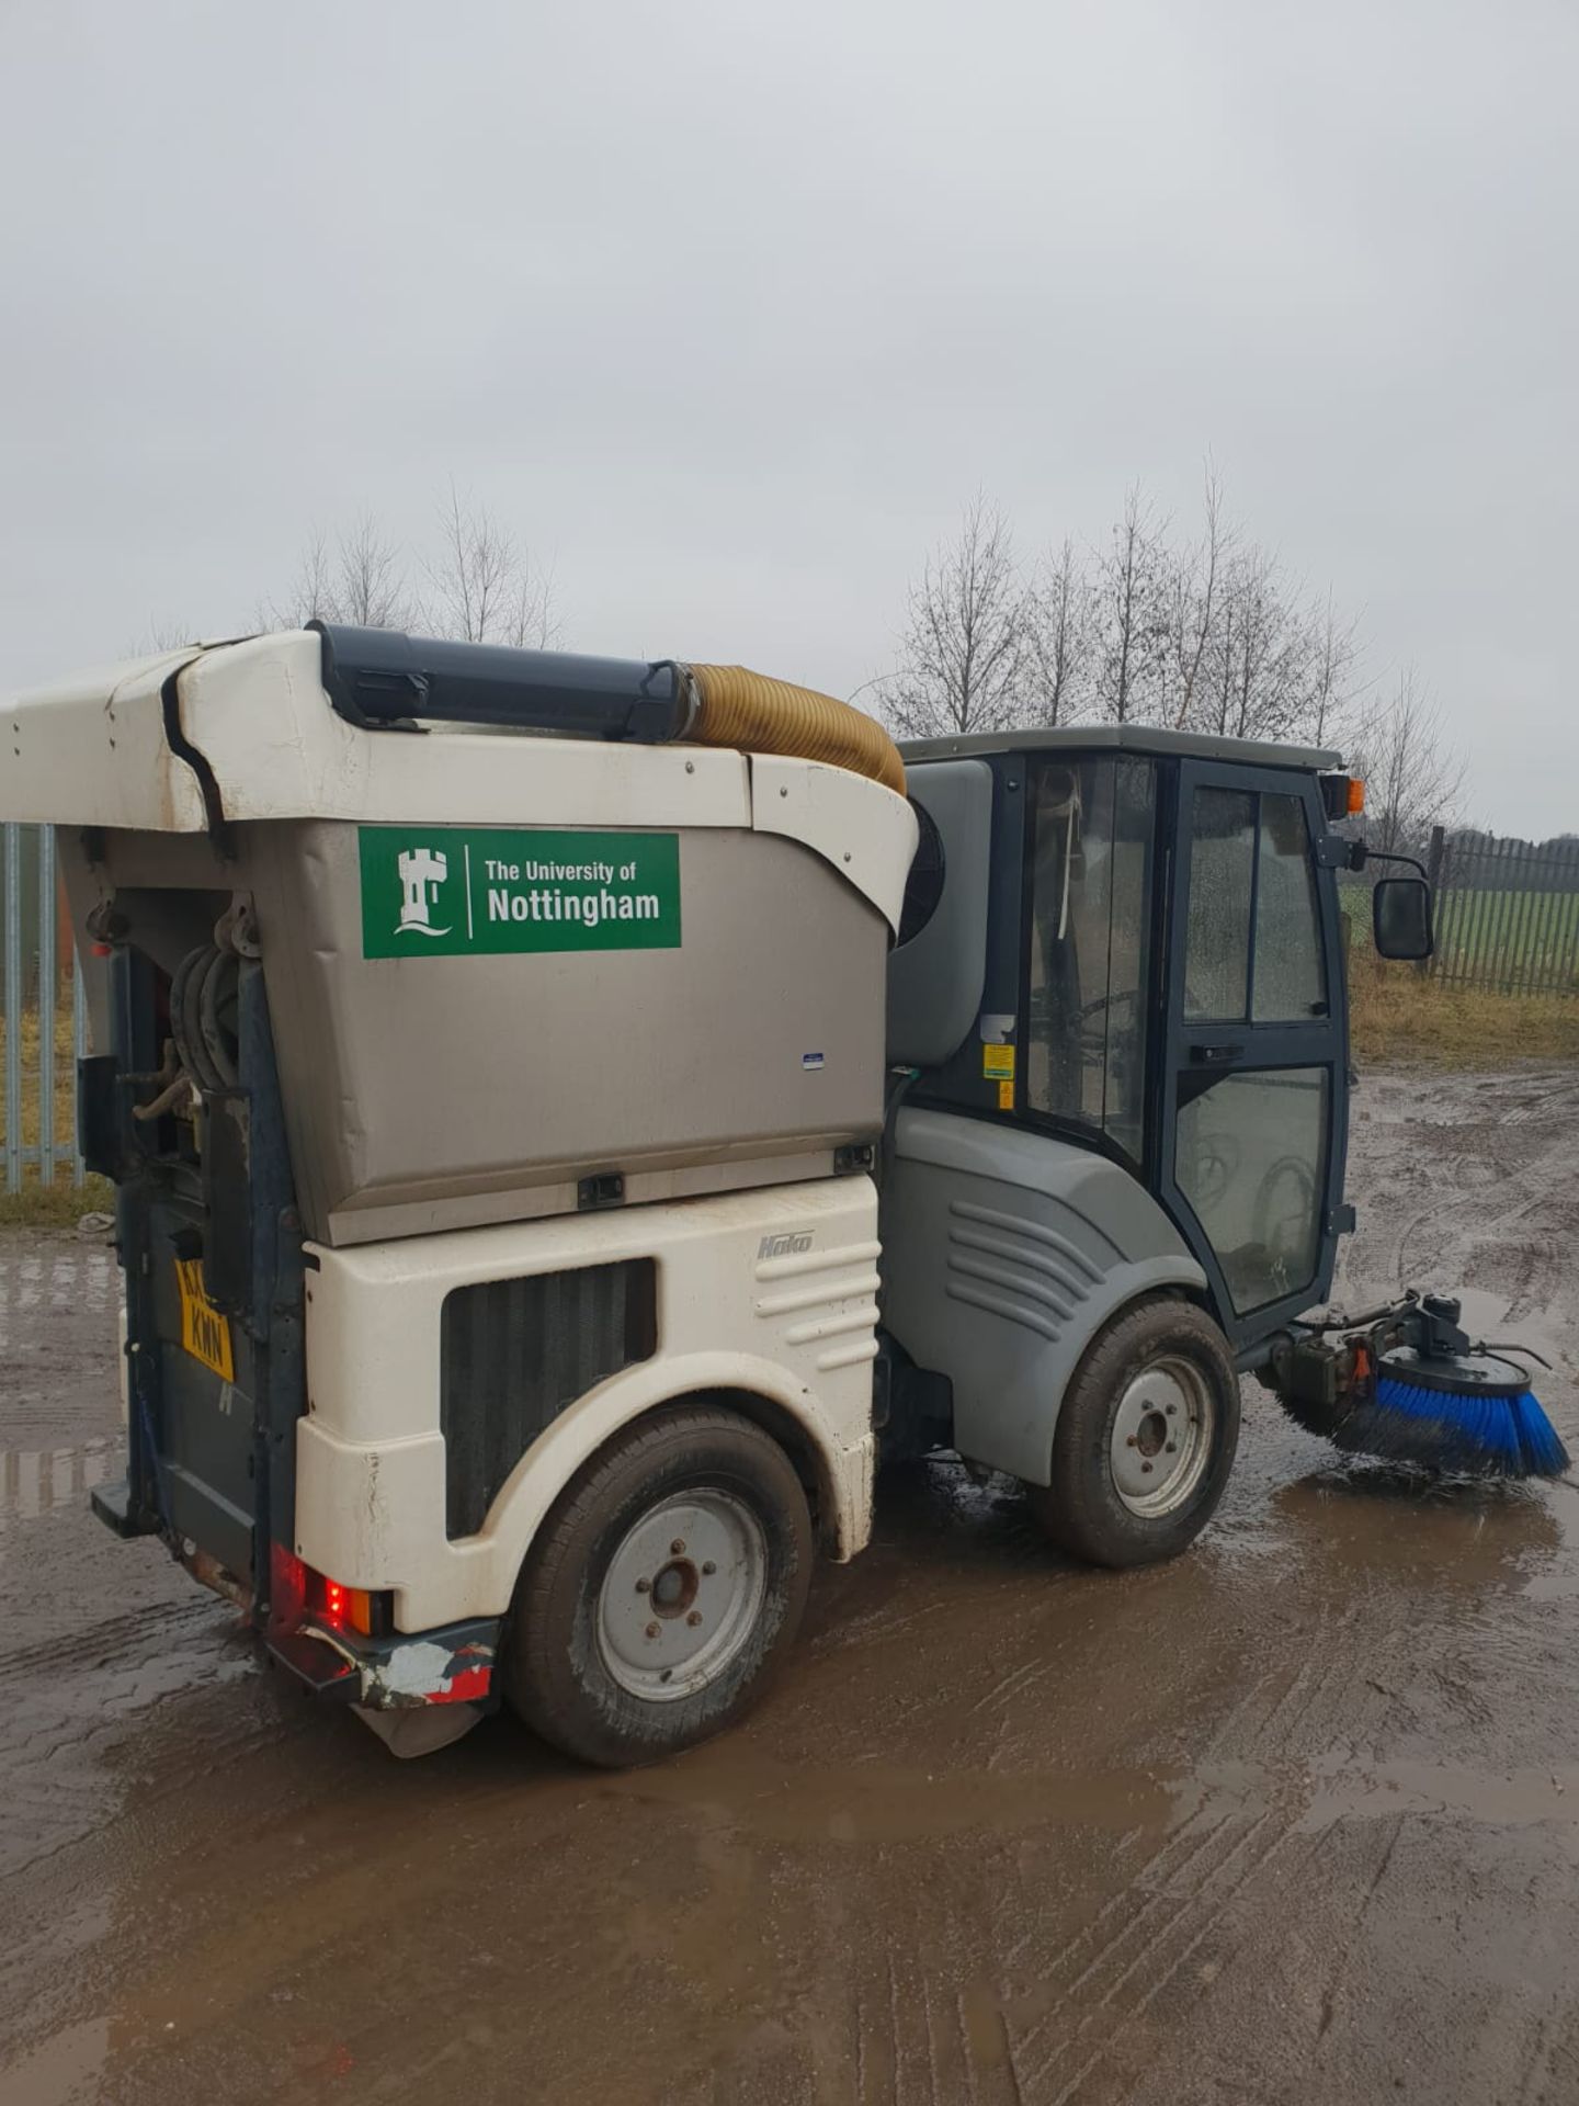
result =
[[691,1491],[642,1514],[598,1590],[598,1651],[615,1683],[676,1704],[749,1643],[768,1588],[768,1539],[743,1499]]

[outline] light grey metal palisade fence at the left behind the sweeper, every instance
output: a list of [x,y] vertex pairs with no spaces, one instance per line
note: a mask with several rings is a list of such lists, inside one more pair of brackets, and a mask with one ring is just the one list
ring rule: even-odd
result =
[[[76,1131],[76,1061],[86,1045],[82,969],[69,954],[69,988],[61,958],[61,912],[55,882],[55,832],[48,826],[4,823],[0,861],[0,1034],[4,1034],[4,1127],[0,1160],[6,1192],[21,1192],[27,1169],[40,1184],[69,1171],[82,1184],[86,1167]],[[67,939],[69,946],[69,939]],[[63,1047],[69,1009],[69,1053]],[[65,1072],[61,1072],[65,1070]],[[57,1114],[69,1106],[69,1139],[57,1137]],[[32,1137],[25,1137],[32,1135]]]

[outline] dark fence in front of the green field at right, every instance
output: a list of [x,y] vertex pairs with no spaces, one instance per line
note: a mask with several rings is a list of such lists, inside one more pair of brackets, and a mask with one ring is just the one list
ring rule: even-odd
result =
[[1432,834],[1436,979],[1499,994],[1579,994],[1579,840],[1533,847]]

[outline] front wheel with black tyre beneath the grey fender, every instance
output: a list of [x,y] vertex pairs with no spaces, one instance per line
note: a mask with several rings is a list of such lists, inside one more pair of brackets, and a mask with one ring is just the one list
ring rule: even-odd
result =
[[[1135,1432],[1118,1426],[1120,1411]],[[1194,1447],[1177,1438],[1185,1428]],[[1238,1441],[1240,1384],[1223,1333],[1192,1302],[1137,1302],[1093,1339],[1063,1394],[1053,1483],[1025,1487],[1032,1514],[1088,1565],[1175,1558],[1217,1512]]]

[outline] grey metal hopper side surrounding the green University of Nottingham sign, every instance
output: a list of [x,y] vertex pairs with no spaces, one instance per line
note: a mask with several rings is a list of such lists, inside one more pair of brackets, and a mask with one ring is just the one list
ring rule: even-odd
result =
[[[173,971],[251,895],[305,1232],[328,1245],[825,1177],[876,1139],[888,925],[817,853],[680,834],[676,950],[364,958],[358,828],[61,834],[78,925],[116,895]],[[806,1061],[804,1057],[811,1055]]]

